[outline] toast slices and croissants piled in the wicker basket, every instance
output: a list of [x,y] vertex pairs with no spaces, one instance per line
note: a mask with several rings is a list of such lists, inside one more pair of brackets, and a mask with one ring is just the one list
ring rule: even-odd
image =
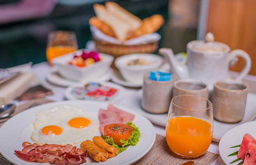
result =
[[90,26],[122,41],[154,33],[164,24],[160,14],[142,20],[115,2],[106,2],[105,6],[95,4],[93,8],[96,16],[89,20]]

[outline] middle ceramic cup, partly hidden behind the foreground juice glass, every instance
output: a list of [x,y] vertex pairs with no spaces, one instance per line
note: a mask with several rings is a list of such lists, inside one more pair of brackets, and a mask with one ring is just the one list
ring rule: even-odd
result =
[[191,94],[208,99],[208,86],[197,79],[181,79],[173,84],[172,97],[184,94]]

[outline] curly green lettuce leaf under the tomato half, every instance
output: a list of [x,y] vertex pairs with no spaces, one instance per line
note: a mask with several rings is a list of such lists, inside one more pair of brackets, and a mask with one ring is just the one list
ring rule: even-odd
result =
[[122,146],[116,145],[112,137],[107,136],[104,139],[104,141],[106,141],[108,144],[116,147],[118,149],[118,153],[125,151],[128,146],[135,146],[139,142],[141,136],[139,128],[136,127],[134,123],[127,122],[126,124],[133,127],[133,132],[130,134],[130,137],[126,141],[123,141],[122,139],[120,140],[121,143],[123,143]]

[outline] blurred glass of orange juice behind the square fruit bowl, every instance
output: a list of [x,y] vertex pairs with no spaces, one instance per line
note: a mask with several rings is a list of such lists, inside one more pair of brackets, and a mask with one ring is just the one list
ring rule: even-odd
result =
[[52,65],[55,57],[78,50],[76,33],[73,31],[52,31],[48,34],[46,59]]

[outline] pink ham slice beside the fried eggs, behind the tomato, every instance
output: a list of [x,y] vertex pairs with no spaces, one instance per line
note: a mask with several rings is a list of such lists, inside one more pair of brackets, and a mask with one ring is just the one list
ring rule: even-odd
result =
[[114,123],[126,124],[127,122],[132,122],[134,117],[135,115],[122,111],[112,104],[109,104],[107,110],[100,109],[99,111],[100,134],[103,135],[103,128],[105,125]]

